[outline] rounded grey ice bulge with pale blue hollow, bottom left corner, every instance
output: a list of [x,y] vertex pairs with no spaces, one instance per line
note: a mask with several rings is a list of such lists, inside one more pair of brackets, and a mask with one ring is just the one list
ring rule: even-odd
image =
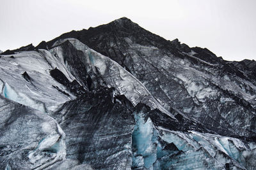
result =
[[65,133],[44,113],[0,97],[0,169],[45,169],[65,159]]

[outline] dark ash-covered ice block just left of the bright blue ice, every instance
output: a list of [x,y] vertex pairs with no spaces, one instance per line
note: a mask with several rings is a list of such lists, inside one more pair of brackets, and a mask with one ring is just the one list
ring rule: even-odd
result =
[[107,89],[88,92],[51,115],[66,134],[67,159],[93,169],[131,169],[132,107],[111,97]]

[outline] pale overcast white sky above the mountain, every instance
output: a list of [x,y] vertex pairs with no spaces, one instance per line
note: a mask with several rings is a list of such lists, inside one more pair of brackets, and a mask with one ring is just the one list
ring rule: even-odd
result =
[[1,0],[0,50],[127,17],[165,39],[225,60],[256,60],[255,0]]

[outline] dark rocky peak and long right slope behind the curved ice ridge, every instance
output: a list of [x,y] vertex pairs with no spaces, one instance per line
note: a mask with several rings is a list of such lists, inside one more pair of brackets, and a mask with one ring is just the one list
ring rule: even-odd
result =
[[115,60],[173,115],[184,113],[218,134],[255,140],[254,60],[228,62],[207,48],[161,38],[128,18],[68,32],[48,44],[63,38],[77,38]]

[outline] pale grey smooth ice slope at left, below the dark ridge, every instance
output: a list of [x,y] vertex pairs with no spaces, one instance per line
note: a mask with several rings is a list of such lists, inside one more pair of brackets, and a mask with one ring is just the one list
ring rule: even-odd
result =
[[[46,50],[20,52],[13,57],[14,59],[10,55],[4,55],[0,58],[0,81],[4,84],[1,89],[2,96],[43,112],[54,111],[60,104],[75,98],[73,94],[67,96],[54,88],[55,86],[66,91],[49,74],[49,69],[60,66],[51,53]],[[13,62],[16,64],[13,65]],[[22,75],[25,71],[30,80]],[[70,78],[65,69],[63,73]]]

